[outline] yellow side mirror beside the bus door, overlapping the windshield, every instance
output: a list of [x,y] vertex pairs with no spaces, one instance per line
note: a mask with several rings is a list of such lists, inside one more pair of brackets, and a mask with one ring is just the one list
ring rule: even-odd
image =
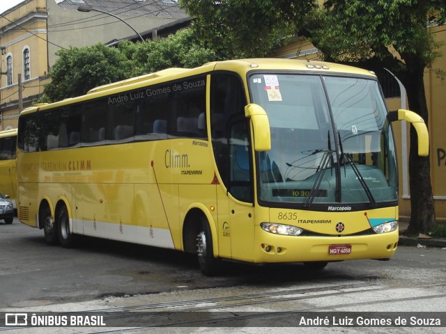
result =
[[271,150],[270,121],[266,111],[259,104],[248,104],[245,106],[245,116],[251,119],[252,131],[254,132],[254,150]]

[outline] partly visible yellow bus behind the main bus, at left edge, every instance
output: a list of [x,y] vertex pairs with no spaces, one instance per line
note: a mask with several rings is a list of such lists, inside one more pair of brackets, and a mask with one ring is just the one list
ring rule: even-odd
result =
[[0,131],[0,192],[13,203],[16,209],[17,170],[17,129]]

